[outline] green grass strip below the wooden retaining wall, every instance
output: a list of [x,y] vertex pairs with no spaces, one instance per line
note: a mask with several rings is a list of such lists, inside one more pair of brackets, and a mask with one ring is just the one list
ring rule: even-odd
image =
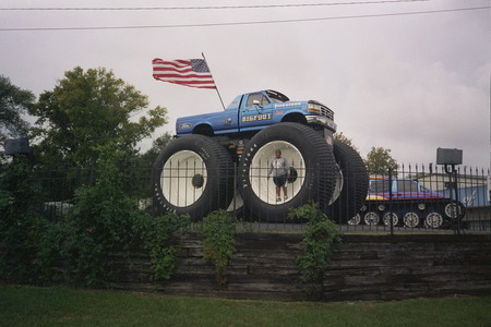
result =
[[491,295],[273,302],[0,286],[0,326],[491,326]]

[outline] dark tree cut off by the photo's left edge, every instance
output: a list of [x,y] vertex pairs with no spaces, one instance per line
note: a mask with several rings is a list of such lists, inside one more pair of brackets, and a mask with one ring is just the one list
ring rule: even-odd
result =
[[10,80],[0,75],[0,142],[9,136],[26,136],[28,123],[23,113],[33,106],[35,96],[31,90],[12,85]]

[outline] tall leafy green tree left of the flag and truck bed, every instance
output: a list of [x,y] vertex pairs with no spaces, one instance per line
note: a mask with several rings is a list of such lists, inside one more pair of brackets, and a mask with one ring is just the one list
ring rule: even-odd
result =
[[167,123],[167,110],[157,106],[147,116],[147,97],[103,68],[84,71],[76,66],[64,73],[53,90],[45,92],[29,111],[38,119],[32,134],[35,150],[45,162],[94,164],[97,147],[116,144],[135,153],[135,145]]

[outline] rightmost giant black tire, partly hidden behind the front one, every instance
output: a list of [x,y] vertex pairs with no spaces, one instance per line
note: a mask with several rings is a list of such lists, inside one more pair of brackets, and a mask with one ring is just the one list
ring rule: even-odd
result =
[[331,205],[331,218],[345,223],[363,206],[369,187],[369,175],[363,159],[352,147],[338,140],[334,140],[333,146],[343,182],[339,196]]

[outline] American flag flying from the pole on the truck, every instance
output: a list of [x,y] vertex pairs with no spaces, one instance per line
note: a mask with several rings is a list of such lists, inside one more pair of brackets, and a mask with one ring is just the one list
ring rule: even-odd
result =
[[191,87],[216,88],[212,73],[204,59],[152,60],[154,78]]

